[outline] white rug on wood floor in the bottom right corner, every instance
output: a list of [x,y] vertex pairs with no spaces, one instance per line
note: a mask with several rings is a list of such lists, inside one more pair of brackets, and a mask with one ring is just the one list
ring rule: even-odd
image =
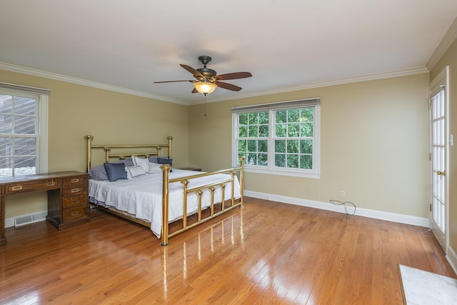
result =
[[456,305],[457,279],[398,265],[407,305]]

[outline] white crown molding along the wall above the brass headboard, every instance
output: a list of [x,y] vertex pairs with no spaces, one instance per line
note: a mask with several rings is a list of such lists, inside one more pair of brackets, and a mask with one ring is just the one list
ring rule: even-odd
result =
[[56,81],[66,81],[66,82],[69,82],[72,84],[90,86],[90,87],[94,87],[94,88],[98,88],[98,89],[115,91],[115,92],[120,92],[120,93],[124,93],[124,94],[131,94],[134,96],[146,97],[148,99],[158,99],[159,101],[169,101],[171,103],[181,104],[181,105],[186,105],[186,106],[189,105],[187,102],[180,101],[177,99],[169,99],[165,96],[158,96],[158,95],[154,95],[154,94],[148,94],[146,92],[125,89],[125,88],[111,86],[111,85],[107,85],[107,84],[101,84],[101,83],[97,83],[95,81],[86,81],[85,79],[78,79],[76,77],[65,76],[65,75],[55,74],[55,73],[41,71],[41,70],[37,70],[37,69],[26,68],[24,66],[16,66],[14,64],[6,64],[4,62],[0,62],[0,69],[6,70],[6,71],[11,71],[11,72],[22,73],[22,74],[29,74],[29,75],[33,75],[33,76],[40,76],[40,77],[44,77],[46,79],[55,79]]

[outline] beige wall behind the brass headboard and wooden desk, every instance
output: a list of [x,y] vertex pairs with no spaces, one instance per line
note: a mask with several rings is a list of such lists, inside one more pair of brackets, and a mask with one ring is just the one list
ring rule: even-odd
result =
[[[174,166],[188,164],[188,106],[4,70],[0,81],[51,90],[49,171],[85,171],[86,134],[94,144],[166,144],[173,136]],[[5,215],[46,209],[46,193],[17,195],[6,199]]]

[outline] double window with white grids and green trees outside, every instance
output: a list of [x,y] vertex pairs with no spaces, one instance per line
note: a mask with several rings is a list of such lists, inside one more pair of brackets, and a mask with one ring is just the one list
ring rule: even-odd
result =
[[238,107],[232,116],[233,164],[244,156],[246,171],[318,178],[319,99]]

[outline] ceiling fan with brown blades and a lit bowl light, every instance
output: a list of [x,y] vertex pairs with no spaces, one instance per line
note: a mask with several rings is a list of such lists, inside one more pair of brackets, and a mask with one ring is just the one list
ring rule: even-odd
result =
[[[220,74],[217,75],[217,72],[213,69],[206,68],[206,64],[211,61],[210,56],[199,56],[199,61],[201,64],[204,65],[203,68],[194,69],[191,66],[187,66],[186,64],[180,64],[184,69],[191,72],[196,79],[191,80],[184,80],[194,83],[194,90],[192,93],[200,92],[201,94],[210,94],[217,87],[221,87],[223,89],[231,90],[231,91],[240,91],[241,87],[235,86],[233,84],[224,83],[223,81],[229,79],[246,79],[246,77],[251,77],[252,74],[249,72],[235,72],[235,73],[228,73],[228,74]],[[154,84],[160,83],[174,83],[178,81],[154,81]]]

